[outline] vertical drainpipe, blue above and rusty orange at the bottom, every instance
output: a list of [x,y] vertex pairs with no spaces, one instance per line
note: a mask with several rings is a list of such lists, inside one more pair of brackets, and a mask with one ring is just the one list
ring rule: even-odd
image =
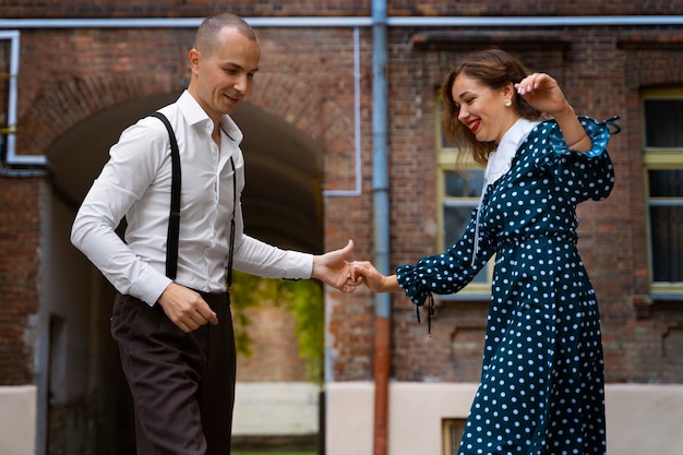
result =
[[[387,166],[386,0],[372,0],[372,191],[374,197],[374,265],[390,273]],[[374,436],[373,454],[386,455],[388,443],[388,375],[391,364],[391,295],[374,297]]]

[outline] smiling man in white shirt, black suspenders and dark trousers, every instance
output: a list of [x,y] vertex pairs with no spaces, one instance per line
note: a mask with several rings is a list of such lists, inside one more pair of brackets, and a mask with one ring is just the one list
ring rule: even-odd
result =
[[[167,242],[175,243],[168,230],[171,140],[153,117],[128,128],[111,147],[72,228],[73,244],[118,291],[111,333],[133,395],[139,455],[230,453],[232,267],[355,289],[346,262],[351,241],[313,256],[243,232],[242,133],[229,115],[249,93],[260,53],[242,19],[206,19],[189,52],[188,89],[159,110],[172,127],[181,163],[177,259],[166,256]],[[115,232],[123,216],[125,242]],[[177,264],[175,276],[165,271],[168,263]]]

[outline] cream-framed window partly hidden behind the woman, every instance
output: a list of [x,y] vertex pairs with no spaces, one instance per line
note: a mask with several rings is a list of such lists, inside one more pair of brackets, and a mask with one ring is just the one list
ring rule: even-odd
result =
[[[441,107],[440,103],[436,103]],[[465,231],[472,209],[479,205],[483,184],[483,169],[474,160],[459,163],[456,168],[457,149],[453,148],[441,131],[441,111],[436,112],[438,176],[436,197],[439,197],[439,251],[444,251],[457,241]],[[455,296],[440,296],[441,300],[488,299],[491,294],[493,259]]]

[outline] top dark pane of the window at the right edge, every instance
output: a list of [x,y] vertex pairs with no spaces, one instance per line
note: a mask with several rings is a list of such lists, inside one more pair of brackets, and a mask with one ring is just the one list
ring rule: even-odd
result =
[[683,147],[683,99],[646,99],[645,143],[648,147]]

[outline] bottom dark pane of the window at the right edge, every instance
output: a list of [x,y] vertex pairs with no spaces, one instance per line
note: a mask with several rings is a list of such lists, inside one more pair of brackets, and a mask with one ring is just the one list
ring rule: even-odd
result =
[[683,206],[650,206],[652,280],[683,282]]

